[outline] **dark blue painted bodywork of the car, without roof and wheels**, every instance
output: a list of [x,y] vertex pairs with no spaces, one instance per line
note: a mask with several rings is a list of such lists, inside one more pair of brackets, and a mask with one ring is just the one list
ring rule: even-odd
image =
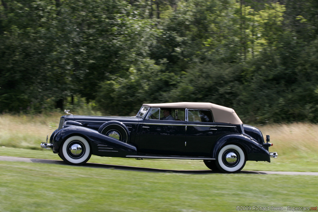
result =
[[[64,128],[54,131],[50,139],[54,152],[72,135],[84,136],[91,141],[92,154],[126,157],[126,155],[183,155],[215,158],[222,146],[237,143],[247,154],[247,160],[270,161],[259,129],[224,123],[142,120],[136,117],[62,116]],[[109,120],[109,121],[107,121]],[[68,124],[68,125],[66,125]],[[73,124],[74,126],[70,125]],[[105,136],[101,130],[109,124],[124,127],[129,135],[128,143]],[[215,129],[215,130],[213,130]],[[54,135],[55,134],[55,135]],[[118,152],[100,152],[97,145],[107,145]]]

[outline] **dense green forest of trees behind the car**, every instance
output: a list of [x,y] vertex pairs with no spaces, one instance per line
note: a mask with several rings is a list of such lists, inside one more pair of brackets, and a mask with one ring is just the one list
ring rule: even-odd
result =
[[317,123],[317,36],[317,0],[1,0],[0,112],[193,101]]

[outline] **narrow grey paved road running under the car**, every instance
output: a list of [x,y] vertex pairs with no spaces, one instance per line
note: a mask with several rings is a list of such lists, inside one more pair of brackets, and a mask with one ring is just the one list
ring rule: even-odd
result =
[[[16,162],[29,162],[29,163],[48,163],[48,164],[67,164],[62,160],[47,160],[47,159],[35,159],[35,158],[19,158],[11,156],[0,156],[0,161],[16,161]],[[92,168],[113,168],[117,170],[127,171],[142,171],[142,172],[159,172],[159,173],[183,173],[183,174],[213,174],[212,170],[169,170],[169,169],[156,169],[156,168],[142,168],[132,166],[110,165],[100,163],[86,163],[83,167]],[[241,171],[242,174],[283,174],[283,175],[314,175],[318,176],[318,172],[271,172],[271,171]]]

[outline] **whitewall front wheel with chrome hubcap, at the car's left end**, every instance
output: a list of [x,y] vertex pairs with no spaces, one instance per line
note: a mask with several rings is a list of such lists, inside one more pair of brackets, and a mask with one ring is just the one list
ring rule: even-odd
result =
[[67,164],[83,165],[91,158],[91,148],[87,140],[81,136],[72,136],[59,149],[59,156]]

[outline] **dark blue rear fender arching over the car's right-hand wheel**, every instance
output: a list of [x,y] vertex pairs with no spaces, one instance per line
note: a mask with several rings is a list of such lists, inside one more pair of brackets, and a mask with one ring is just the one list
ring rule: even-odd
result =
[[247,161],[268,161],[270,162],[269,152],[256,140],[242,134],[227,134],[220,137],[212,149],[212,158],[218,157],[218,152],[227,144],[237,144],[246,153]]

